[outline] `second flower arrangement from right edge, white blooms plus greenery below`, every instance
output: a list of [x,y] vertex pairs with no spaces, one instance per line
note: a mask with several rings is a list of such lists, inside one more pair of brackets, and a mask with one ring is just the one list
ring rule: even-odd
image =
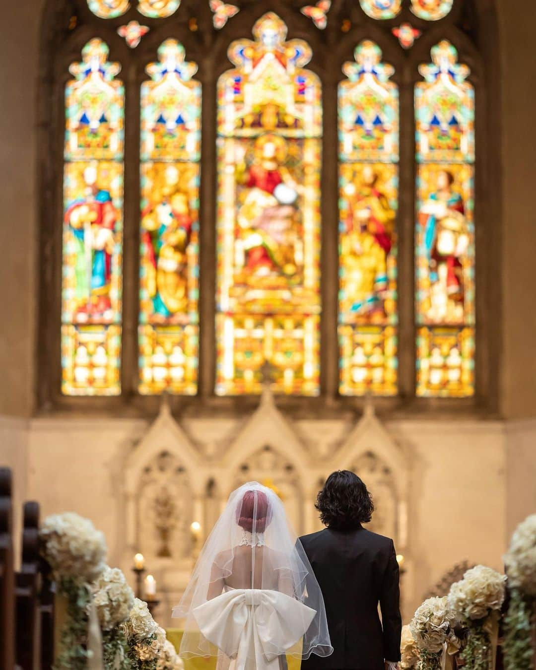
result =
[[506,577],[485,565],[468,570],[450,588],[448,602],[468,627],[460,660],[471,670],[488,670],[500,608],[505,600]]

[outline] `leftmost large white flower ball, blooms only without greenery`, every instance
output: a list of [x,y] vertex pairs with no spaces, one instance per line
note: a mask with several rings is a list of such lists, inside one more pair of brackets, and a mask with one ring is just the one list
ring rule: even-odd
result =
[[40,540],[42,554],[58,582],[85,584],[103,572],[105,536],[89,519],[72,512],[47,517],[40,529]]

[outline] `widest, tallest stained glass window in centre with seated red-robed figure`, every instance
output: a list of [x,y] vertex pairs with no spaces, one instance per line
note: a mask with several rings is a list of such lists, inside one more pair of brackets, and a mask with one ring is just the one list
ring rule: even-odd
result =
[[216,393],[319,392],[321,88],[274,13],[218,82]]

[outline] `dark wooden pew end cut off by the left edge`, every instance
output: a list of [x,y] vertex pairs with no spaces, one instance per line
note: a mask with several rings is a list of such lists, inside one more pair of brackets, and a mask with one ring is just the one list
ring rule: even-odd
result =
[[0,468],[0,670],[15,667],[15,576],[11,470]]

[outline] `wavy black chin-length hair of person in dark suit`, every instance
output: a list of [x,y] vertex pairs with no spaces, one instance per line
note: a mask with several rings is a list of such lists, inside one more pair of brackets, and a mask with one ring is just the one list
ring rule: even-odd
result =
[[374,511],[373,496],[360,478],[349,470],[330,474],[318,493],[315,507],[322,523],[336,531],[350,531],[361,523],[368,523]]

